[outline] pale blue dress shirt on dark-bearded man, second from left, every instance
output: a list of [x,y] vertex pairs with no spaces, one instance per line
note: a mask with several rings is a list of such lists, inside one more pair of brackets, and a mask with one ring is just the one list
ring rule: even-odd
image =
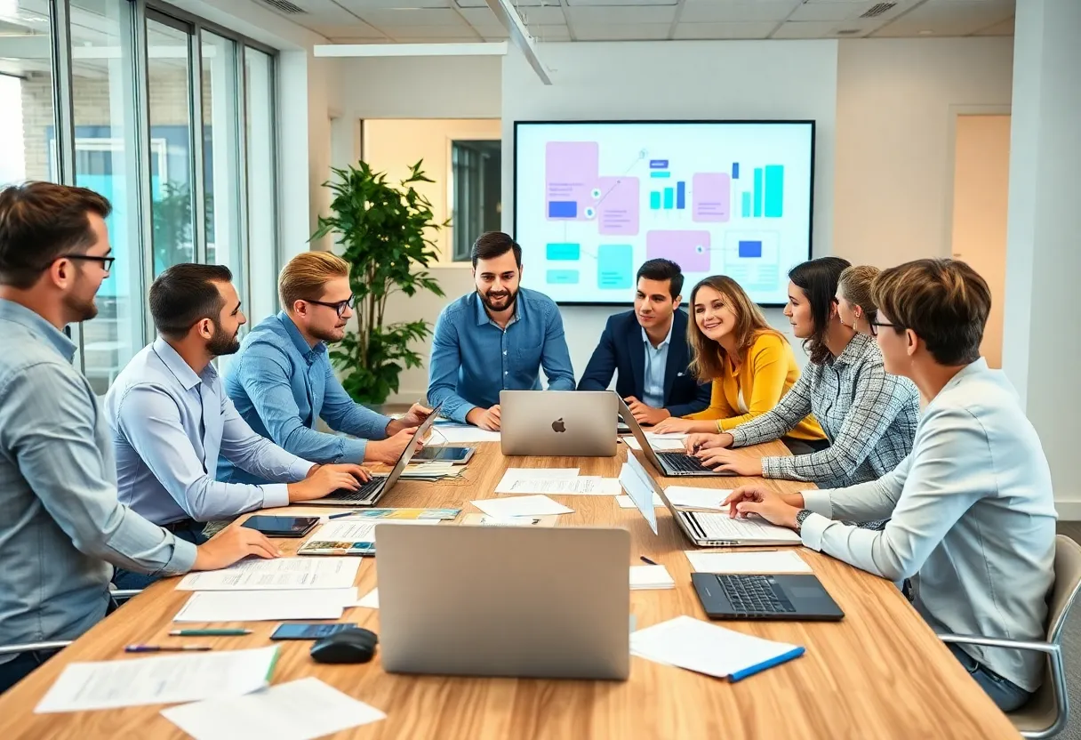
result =
[[[117,376],[105,409],[120,501],[157,524],[285,506],[285,484],[302,480],[312,465],[255,434],[225,395],[214,366],[197,375],[160,336]],[[218,483],[218,454],[263,480],[281,483]]]

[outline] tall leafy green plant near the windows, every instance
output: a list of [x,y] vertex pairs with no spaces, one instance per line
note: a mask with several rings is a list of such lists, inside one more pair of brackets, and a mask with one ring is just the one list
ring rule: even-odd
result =
[[332,168],[334,179],[323,183],[334,194],[331,215],[319,219],[312,239],[333,234],[349,263],[349,286],[357,299],[357,331],[330,353],[353,400],[379,406],[398,392],[398,375],[418,368],[422,357],[411,348],[431,333],[427,321],[386,323],[387,299],[395,292],[415,295],[442,289],[425,267],[438,259],[431,235],[450,224],[432,220],[431,203],[413,187],[435,182],[425,176],[422,162],[410,168],[398,185],[366,162],[348,169]]

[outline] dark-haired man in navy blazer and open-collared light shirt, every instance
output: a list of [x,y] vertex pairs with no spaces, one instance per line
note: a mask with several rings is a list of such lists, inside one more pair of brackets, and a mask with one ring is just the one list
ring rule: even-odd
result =
[[615,389],[639,424],[656,424],[709,406],[710,384],[688,370],[688,316],[679,309],[683,273],[670,260],[649,260],[638,269],[635,309],[610,316],[601,341],[578,381],[578,391]]

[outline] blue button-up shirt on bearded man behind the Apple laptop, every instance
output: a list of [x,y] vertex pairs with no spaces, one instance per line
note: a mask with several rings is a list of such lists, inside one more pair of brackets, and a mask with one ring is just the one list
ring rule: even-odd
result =
[[573,391],[574,370],[555,301],[521,288],[515,318],[502,329],[476,293],[451,303],[436,321],[428,366],[428,402],[465,423],[475,408],[499,402],[499,391],[540,387],[544,368],[551,391]]

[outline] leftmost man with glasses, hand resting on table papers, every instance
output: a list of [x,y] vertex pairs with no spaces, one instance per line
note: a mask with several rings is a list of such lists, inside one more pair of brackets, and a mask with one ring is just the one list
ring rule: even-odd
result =
[[[108,424],[64,333],[97,315],[110,211],[81,187],[0,188],[0,645],[86,632],[114,606],[114,565],[175,576],[278,554],[240,527],[197,547],[117,500]],[[53,652],[0,656],[0,693]]]

